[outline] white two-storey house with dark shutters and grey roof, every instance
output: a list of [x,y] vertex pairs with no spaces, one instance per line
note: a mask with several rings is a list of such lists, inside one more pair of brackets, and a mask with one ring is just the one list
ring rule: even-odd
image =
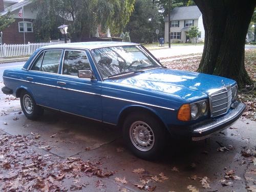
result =
[[[168,16],[164,18],[164,41],[168,42]],[[187,42],[186,32],[196,26],[201,32],[198,40],[204,40],[202,13],[197,6],[176,7],[170,12],[170,42]]]

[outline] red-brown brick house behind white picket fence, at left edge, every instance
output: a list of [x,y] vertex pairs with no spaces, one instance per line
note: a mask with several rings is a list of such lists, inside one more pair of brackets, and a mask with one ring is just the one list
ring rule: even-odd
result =
[[[19,17],[19,10],[24,7],[24,23],[23,17]],[[5,44],[24,44],[24,31],[26,43],[34,42],[35,35],[33,32],[33,21],[36,18],[36,11],[32,8],[32,0],[0,0],[0,14],[7,14],[11,11],[15,22],[3,32],[3,43]]]

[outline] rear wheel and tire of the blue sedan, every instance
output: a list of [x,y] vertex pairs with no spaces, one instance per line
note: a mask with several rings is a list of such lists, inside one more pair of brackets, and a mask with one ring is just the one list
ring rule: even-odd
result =
[[44,114],[44,109],[37,105],[33,97],[25,90],[20,94],[20,106],[28,119],[37,119]]

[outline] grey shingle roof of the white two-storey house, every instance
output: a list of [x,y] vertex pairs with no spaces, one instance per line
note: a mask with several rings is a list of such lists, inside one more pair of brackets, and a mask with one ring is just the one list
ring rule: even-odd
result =
[[[197,6],[176,7],[170,12],[170,20],[198,19],[202,15]],[[168,20],[168,16],[165,17]]]

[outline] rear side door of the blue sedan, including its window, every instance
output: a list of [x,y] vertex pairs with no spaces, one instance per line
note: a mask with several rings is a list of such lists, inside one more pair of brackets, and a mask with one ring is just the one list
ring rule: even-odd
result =
[[57,109],[58,69],[63,49],[44,50],[32,63],[26,80],[35,102],[48,108]]

